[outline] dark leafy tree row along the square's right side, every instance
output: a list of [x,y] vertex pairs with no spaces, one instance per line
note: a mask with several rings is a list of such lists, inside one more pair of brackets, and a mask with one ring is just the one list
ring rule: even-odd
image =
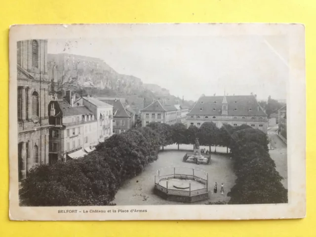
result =
[[230,144],[237,176],[229,204],[287,203],[283,177],[270,157],[267,135],[257,129],[235,131]]

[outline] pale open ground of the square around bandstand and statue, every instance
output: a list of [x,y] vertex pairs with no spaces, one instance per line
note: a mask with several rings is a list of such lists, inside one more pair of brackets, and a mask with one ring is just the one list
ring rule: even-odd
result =
[[[203,148],[203,147],[201,147]],[[205,147],[208,149],[208,147]],[[154,194],[155,175],[157,170],[164,167],[186,167],[202,169],[208,173],[209,179],[209,199],[198,201],[192,204],[204,204],[208,201],[226,201],[228,202],[230,197],[227,197],[227,192],[234,186],[236,176],[233,172],[232,160],[225,154],[226,148],[216,148],[218,152],[223,154],[212,154],[211,164],[193,164],[183,162],[183,156],[192,151],[192,145],[180,145],[180,151],[177,150],[176,145],[170,145],[164,148],[163,152],[159,153],[157,161],[148,165],[145,170],[125,184],[118,190],[118,193],[113,201],[117,205],[163,205],[163,204],[188,204],[176,201],[165,200]],[[211,149],[214,151],[214,148]],[[214,183],[218,184],[217,194],[213,194]],[[221,195],[220,185],[224,183],[225,193]]]

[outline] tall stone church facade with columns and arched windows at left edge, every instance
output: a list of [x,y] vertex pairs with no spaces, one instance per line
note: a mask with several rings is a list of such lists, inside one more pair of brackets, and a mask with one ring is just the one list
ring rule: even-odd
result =
[[48,163],[47,40],[17,42],[19,179],[34,165]]

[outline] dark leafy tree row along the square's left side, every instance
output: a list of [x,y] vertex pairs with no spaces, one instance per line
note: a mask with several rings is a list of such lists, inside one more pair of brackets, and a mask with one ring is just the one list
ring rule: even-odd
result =
[[149,127],[111,136],[84,158],[33,168],[19,191],[24,206],[111,205],[125,180],[157,160],[158,134]]

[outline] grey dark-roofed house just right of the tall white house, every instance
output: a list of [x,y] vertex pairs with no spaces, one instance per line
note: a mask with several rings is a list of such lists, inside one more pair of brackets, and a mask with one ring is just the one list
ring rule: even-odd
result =
[[116,98],[98,98],[113,106],[113,133],[121,133],[133,127],[135,114],[126,109],[122,100]]

